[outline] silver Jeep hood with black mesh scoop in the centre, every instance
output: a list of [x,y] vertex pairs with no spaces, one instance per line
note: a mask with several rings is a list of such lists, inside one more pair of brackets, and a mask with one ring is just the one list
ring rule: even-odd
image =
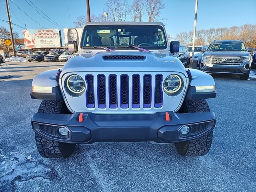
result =
[[[127,59],[128,58],[128,59]],[[170,52],[113,51],[89,52],[70,58],[62,68],[67,72],[181,72],[186,70]]]

